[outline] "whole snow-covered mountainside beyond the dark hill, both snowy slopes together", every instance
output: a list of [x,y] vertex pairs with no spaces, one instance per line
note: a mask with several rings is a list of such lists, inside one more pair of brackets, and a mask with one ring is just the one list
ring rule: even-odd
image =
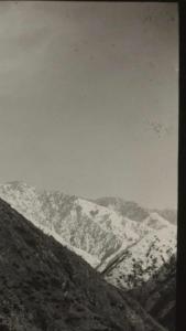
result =
[[124,289],[149,280],[176,250],[176,226],[155,212],[131,221],[92,201],[22,182],[0,185],[0,197]]

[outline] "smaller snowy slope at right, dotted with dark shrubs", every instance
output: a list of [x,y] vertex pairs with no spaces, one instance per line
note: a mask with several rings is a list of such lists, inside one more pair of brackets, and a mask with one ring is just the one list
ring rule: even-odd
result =
[[164,226],[160,222],[157,228],[153,226],[151,233],[116,254],[101,270],[109,282],[122,289],[142,286],[169,260],[176,253],[176,227],[162,222]]

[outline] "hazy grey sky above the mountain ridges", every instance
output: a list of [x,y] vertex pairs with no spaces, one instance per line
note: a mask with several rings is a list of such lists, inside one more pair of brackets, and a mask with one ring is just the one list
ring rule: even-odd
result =
[[176,3],[0,2],[0,182],[177,203]]

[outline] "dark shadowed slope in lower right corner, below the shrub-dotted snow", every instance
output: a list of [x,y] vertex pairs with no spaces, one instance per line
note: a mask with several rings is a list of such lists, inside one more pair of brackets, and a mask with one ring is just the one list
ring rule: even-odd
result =
[[173,255],[143,287],[131,292],[169,331],[175,330],[176,257]]

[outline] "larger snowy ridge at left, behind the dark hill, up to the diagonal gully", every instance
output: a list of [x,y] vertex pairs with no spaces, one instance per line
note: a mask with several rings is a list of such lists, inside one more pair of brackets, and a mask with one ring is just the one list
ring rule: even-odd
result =
[[146,225],[139,226],[94,202],[62,192],[37,191],[22,182],[0,185],[0,197],[94,267],[150,232]]

